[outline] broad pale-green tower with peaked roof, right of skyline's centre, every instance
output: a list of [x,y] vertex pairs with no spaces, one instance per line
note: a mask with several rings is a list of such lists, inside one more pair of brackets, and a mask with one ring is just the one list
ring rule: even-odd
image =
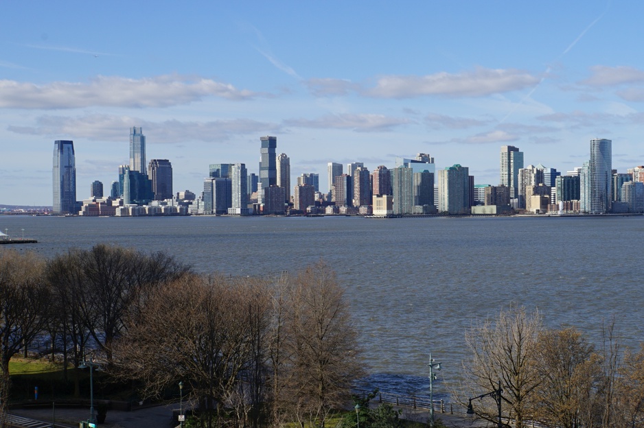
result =
[[438,211],[442,213],[469,213],[469,168],[456,164],[438,171],[438,198]]

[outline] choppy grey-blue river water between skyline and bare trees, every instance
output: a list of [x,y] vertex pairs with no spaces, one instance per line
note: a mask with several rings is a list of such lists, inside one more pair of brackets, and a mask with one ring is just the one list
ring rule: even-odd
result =
[[275,274],[323,259],[347,289],[382,390],[425,391],[430,352],[441,377],[458,377],[465,330],[511,302],[595,341],[614,316],[625,345],[644,340],[644,217],[0,216],[5,228],[38,239],[19,250],[118,243],[164,250],[202,272]]

